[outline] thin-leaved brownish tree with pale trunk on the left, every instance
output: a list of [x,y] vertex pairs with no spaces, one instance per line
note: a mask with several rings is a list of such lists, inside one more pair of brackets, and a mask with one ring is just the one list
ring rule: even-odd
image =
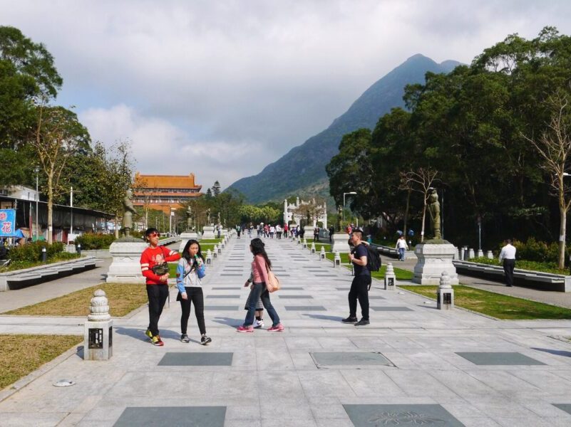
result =
[[89,147],[89,133],[74,112],[63,107],[40,105],[37,108],[34,147],[40,169],[46,176],[48,196],[48,243],[53,241],[53,201],[63,191],[62,172],[68,159],[82,147]]

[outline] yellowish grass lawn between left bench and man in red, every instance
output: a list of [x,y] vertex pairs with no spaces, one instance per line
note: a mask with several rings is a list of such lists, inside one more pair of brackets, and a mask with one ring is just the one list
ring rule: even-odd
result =
[[21,316],[87,316],[89,302],[93,292],[103,289],[107,294],[110,315],[122,317],[148,302],[143,283],[102,283],[68,295],[53,298],[34,305],[26,305],[16,310],[4,312],[5,315]]

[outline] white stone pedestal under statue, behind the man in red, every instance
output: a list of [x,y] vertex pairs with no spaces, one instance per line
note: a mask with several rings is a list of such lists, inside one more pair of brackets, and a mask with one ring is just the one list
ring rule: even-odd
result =
[[113,262],[107,273],[107,283],[145,283],[140,272],[140,254],[148,244],[140,238],[120,238],[111,243],[109,253]]

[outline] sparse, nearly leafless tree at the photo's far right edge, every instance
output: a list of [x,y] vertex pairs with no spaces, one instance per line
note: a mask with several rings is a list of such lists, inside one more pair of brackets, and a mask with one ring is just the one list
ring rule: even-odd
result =
[[[571,88],[571,86],[570,86]],[[558,268],[565,268],[565,236],[567,212],[571,206],[571,186],[565,185],[565,176],[571,170],[571,106],[570,93],[558,90],[550,96],[547,105],[552,111],[550,122],[538,139],[526,137],[542,158],[540,166],[550,178],[552,194],[559,207],[559,256]]]

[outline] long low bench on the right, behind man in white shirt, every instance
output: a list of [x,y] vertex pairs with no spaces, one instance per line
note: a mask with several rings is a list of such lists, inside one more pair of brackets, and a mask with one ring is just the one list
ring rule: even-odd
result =
[[[504,273],[501,265],[472,263],[470,261],[453,260],[458,274],[503,282]],[[513,284],[522,288],[571,292],[571,275],[543,273],[515,268]]]

